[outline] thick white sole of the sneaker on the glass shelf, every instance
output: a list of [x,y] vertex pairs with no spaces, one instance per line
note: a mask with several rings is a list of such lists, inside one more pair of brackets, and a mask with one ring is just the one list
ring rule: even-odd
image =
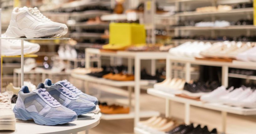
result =
[[54,38],[65,35],[68,32],[68,28],[64,26],[56,28],[42,28],[39,30],[31,30],[28,28],[19,29],[18,27],[8,27],[6,35],[8,37],[27,37],[27,38]]

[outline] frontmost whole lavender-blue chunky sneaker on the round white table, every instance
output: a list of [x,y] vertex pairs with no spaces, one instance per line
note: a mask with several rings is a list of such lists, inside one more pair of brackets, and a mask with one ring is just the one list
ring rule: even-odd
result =
[[65,124],[77,119],[76,112],[61,105],[45,89],[29,92],[27,86],[22,86],[18,92],[13,112],[19,120],[33,119],[36,124],[47,126]]

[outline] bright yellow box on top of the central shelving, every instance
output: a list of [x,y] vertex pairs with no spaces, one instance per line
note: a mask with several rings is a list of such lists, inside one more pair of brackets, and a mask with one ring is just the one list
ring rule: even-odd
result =
[[110,23],[109,44],[134,45],[146,43],[144,25],[137,23]]

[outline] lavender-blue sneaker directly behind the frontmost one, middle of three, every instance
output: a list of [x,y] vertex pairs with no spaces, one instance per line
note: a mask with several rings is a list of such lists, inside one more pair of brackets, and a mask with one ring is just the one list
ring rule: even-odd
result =
[[[45,81],[50,81],[46,79]],[[50,82],[48,82],[49,84]],[[55,84],[43,84],[40,83],[37,88],[44,88],[50,93],[61,105],[73,110],[76,114],[82,115],[88,112],[92,112],[96,109],[96,105],[90,101],[84,100],[73,94],[71,91],[63,87],[60,83]]]

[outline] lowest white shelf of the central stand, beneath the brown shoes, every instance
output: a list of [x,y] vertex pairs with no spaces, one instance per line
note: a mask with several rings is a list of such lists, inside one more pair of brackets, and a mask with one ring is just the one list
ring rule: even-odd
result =
[[[153,116],[160,116],[160,112],[157,111],[140,111],[140,118],[148,118]],[[103,120],[121,120],[121,119],[133,119],[135,117],[135,113],[131,111],[128,114],[103,114],[101,119]]]

